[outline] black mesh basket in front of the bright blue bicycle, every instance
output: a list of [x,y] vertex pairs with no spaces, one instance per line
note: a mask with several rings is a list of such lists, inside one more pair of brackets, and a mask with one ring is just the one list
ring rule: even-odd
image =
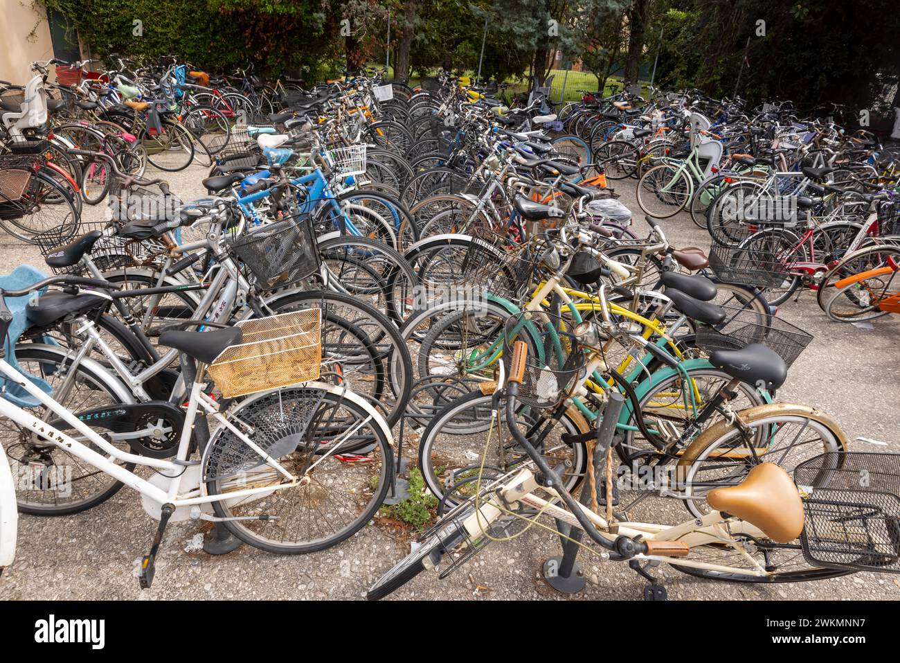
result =
[[268,223],[231,242],[231,252],[263,290],[289,286],[319,271],[319,245],[310,218]]

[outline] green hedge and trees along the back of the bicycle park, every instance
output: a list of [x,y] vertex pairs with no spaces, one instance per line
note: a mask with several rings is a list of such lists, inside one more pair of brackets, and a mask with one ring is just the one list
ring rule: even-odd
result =
[[[410,47],[414,73],[447,68],[502,80],[581,59],[599,83],[628,50],[635,0],[25,0],[67,16],[94,55],[176,54],[211,71],[253,62],[269,74],[316,78],[345,61],[383,61]],[[873,108],[900,72],[896,0],[652,0],[642,59],[655,82],[737,94]],[[143,34],[132,34],[134,21]],[[349,21],[351,33],[342,31]],[[765,34],[758,34],[759,22]],[[554,29],[550,30],[553,22]],[[32,26],[21,26],[27,31]],[[663,38],[659,39],[662,29]],[[404,38],[406,41],[404,42]],[[749,45],[747,40],[750,39]],[[377,51],[381,52],[381,55]],[[374,57],[376,56],[377,57]],[[397,53],[392,54],[397,62]],[[890,101],[881,99],[881,101]]]

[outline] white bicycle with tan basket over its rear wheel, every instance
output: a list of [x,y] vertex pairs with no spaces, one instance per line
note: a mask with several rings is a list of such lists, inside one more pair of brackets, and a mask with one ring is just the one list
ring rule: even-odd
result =
[[[22,290],[0,289],[0,338],[14,320],[6,298],[52,285],[95,288],[97,296],[117,288],[94,278],[50,277]],[[47,381],[25,375],[11,357],[0,359],[0,416],[18,431],[18,443],[4,454],[18,461],[17,471],[8,459],[0,463],[0,568],[14,556],[14,488],[56,492],[62,500],[85,490],[138,491],[159,521],[139,568],[145,588],[168,522],[220,522],[238,540],[291,554],[329,548],[369,522],[391,484],[392,434],[362,396],[315,381],[320,311],[234,327],[186,324],[212,331],[169,329],[159,337],[179,352],[181,379],[190,385],[186,404],[110,402],[107,391],[79,379],[83,393],[72,412],[54,400]],[[218,424],[212,434],[208,418]]]

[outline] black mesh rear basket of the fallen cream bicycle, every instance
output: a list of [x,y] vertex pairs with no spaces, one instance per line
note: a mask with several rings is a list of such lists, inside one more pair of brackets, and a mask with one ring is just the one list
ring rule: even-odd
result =
[[794,481],[808,562],[900,573],[900,454],[831,451],[800,463]]

